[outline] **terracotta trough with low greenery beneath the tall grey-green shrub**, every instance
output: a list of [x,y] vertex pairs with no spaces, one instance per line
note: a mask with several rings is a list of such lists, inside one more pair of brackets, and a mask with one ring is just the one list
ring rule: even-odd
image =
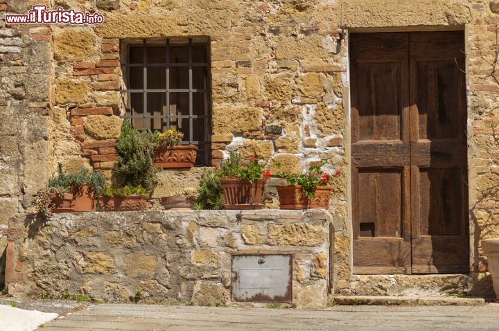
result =
[[103,190],[98,198],[100,211],[143,211],[147,206],[148,191],[141,186],[125,186]]

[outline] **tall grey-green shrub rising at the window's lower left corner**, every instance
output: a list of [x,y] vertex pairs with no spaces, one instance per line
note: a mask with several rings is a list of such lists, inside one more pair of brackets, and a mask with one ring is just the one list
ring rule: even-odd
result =
[[116,186],[143,187],[152,194],[157,186],[157,168],[154,165],[154,148],[157,134],[134,129],[128,120],[121,125],[116,141]]

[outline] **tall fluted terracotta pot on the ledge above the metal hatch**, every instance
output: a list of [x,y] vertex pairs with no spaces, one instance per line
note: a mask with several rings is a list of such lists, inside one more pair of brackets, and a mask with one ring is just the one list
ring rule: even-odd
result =
[[261,209],[266,182],[267,179],[257,179],[252,185],[246,179],[220,179],[225,209]]

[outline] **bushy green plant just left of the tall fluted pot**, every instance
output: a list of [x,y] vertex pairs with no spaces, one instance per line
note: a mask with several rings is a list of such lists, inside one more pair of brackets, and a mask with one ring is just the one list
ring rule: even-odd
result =
[[222,209],[222,186],[220,186],[220,178],[214,170],[203,170],[196,195],[194,204],[196,210]]

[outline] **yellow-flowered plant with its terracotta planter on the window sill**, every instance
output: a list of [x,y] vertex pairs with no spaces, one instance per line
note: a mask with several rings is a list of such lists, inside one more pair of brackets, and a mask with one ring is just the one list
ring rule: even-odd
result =
[[198,146],[179,145],[182,132],[172,128],[157,134],[154,163],[157,168],[192,168]]

